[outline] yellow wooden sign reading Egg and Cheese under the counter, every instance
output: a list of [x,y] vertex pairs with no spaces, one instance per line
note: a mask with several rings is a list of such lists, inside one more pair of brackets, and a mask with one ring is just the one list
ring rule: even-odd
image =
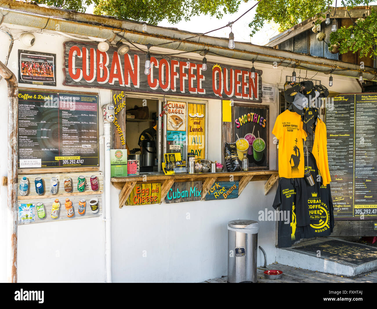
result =
[[161,183],[135,184],[126,206],[158,204],[161,202]]

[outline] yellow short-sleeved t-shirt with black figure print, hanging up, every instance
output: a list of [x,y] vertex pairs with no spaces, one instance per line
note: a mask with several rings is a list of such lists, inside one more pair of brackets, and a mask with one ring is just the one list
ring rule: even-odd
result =
[[301,116],[288,109],[276,118],[272,134],[279,140],[280,177],[304,177],[305,156],[302,140],[306,140],[307,134],[302,125]]

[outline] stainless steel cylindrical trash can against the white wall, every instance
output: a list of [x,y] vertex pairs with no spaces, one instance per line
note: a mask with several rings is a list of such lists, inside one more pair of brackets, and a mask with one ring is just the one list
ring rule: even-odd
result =
[[258,222],[228,222],[228,282],[257,282]]

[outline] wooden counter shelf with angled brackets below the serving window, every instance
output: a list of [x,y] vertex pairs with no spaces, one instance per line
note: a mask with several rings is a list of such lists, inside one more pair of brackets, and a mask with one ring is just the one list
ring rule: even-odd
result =
[[[246,188],[250,181],[267,181],[264,185],[264,195],[267,195],[273,185],[279,179],[278,171],[248,171],[248,172],[222,172],[222,173],[198,173],[198,174],[154,174],[139,175],[129,177],[112,177],[113,186],[120,189],[119,207],[122,208],[130,196],[133,187],[138,183],[161,182],[161,201],[165,199],[167,192],[175,182],[198,181],[202,180],[202,199],[208,193],[215,181],[229,181],[233,176],[233,181],[239,181],[238,195]],[[160,202],[161,203],[161,202]]]

